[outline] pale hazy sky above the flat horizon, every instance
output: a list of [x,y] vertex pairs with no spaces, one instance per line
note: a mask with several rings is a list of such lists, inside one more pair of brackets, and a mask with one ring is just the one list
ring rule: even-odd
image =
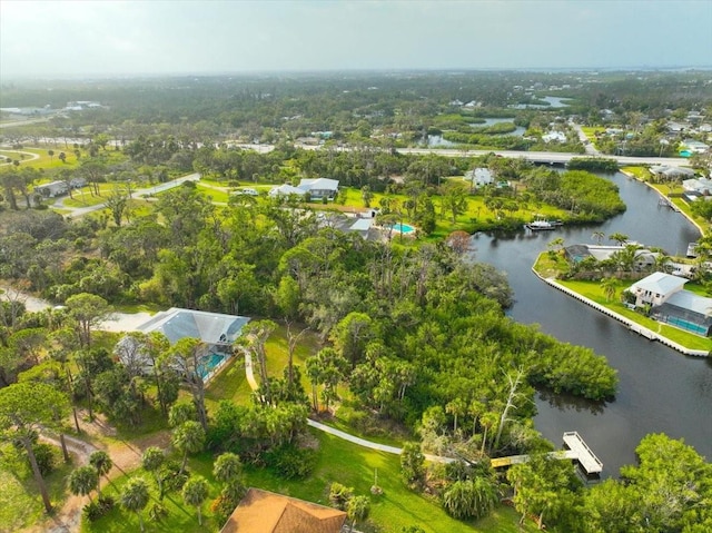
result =
[[712,65],[712,0],[0,0],[0,78]]

